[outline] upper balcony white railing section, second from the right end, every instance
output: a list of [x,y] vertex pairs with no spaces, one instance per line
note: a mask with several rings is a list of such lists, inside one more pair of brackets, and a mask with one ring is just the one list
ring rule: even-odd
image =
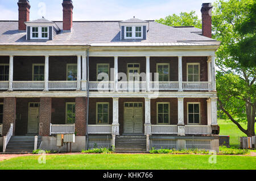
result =
[[150,82],[151,90],[178,90],[179,82]]

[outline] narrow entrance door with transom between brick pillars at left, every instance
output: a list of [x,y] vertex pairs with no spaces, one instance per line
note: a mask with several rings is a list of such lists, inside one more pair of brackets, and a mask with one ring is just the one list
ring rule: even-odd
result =
[[40,103],[28,103],[27,133],[38,133]]

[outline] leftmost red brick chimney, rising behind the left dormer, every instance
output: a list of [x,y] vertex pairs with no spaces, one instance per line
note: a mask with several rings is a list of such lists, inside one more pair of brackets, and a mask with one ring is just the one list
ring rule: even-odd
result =
[[26,24],[30,20],[30,2],[28,0],[19,0],[19,31],[26,31]]

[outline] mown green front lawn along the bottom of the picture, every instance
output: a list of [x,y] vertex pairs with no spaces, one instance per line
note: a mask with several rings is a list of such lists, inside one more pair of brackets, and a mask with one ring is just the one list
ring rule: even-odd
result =
[[2,161],[0,169],[256,169],[256,157],[217,155],[217,163],[209,163],[209,157],[170,154],[47,155],[46,164],[39,164],[39,155],[35,155]]

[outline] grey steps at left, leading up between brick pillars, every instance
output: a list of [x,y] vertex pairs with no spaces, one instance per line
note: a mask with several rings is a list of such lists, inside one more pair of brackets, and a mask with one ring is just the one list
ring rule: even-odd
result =
[[[34,136],[12,136],[6,146],[6,153],[31,153],[34,150]],[[41,137],[38,137],[38,147]]]

